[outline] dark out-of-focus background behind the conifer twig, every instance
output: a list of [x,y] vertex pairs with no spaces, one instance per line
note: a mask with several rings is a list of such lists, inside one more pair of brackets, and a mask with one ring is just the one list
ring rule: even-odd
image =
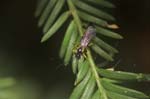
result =
[[[117,6],[114,12],[124,36],[118,45],[117,67],[150,73],[150,0],[111,1]],[[74,75],[58,58],[63,34],[41,44],[35,8],[36,0],[0,1],[0,77],[17,79],[6,95],[10,99],[66,99]]]

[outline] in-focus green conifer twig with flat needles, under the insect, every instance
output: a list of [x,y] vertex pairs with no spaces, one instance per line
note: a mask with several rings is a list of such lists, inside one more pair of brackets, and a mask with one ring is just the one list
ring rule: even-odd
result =
[[142,92],[121,86],[124,82],[150,81],[149,75],[98,68],[92,53],[97,53],[98,58],[104,58],[108,62],[113,61],[114,54],[118,53],[103,38],[96,36],[93,39],[92,46],[86,49],[86,58],[82,56],[78,60],[73,54],[74,44],[79,43],[85,31],[84,25],[88,23],[94,24],[96,32],[101,36],[123,39],[120,34],[112,31],[117,28],[115,18],[103,11],[103,7],[115,8],[106,0],[41,0],[35,12],[35,16],[39,17],[39,26],[43,26],[44,36],[41,42],[50,39],[69,22],[59,56],[65,65],[72,61],[72,71],[76,74],[75,88],[70,99],[149,99]]

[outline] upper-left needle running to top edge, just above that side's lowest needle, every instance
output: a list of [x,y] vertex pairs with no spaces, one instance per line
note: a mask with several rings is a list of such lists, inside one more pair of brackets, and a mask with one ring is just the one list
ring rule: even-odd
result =
[[43,27],[43,32],[47,32],[48,29],[52,26],[54,23],[55,19],[57,18],[58,14],[62,10],[63,5],[65,4],[66,0],[58,0],[56,3],[55,7],[53,8],[53,11],[51,12],[50,16],[48,17],[44,27]]

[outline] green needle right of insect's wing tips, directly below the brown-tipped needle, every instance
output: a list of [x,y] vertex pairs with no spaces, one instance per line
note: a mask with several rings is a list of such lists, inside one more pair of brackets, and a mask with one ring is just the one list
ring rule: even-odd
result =
[[108,29],[104,29],[102,27],[95,26],[97,33],[100,33],[104,36],[111,37],[114,39],[123,39],[123,37],[115,32],[112,32]]

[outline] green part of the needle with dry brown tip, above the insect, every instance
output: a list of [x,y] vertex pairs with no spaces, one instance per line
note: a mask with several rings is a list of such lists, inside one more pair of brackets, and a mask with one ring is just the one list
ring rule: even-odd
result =
[[87,14],[85,12],[82,12],[82,11],[78,10],[78,14],[79,14],[80,18],[83,19],[84,21],[92,22],[92,23],[95,23],[97,25],[101,25],[103,27],[106,27],[108,25],[105,20],[102,20],[100,18],[94,17],[94,16],[89,15],[89,14]]

